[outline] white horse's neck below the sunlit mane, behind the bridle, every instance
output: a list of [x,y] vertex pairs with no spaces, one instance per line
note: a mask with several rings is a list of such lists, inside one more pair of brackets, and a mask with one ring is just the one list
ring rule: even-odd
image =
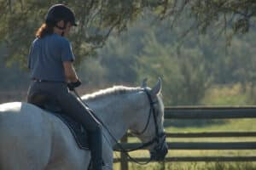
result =
[[[109,96],[109,98],[84,99],[84,102],[95,111],[96,116],[108,127],[114,138],[120,139],[136,121],[137,115],[141,111],[140,108],[142,108],[142,98],[143,96],[138,93],[119,94]],[[115,144],[108,132],[106,135],[108,135],[112,145]]]

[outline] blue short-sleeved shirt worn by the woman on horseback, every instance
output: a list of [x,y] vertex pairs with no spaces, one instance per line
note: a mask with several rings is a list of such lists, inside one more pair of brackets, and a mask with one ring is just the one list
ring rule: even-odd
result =
[[36,38],[28,56],[31,78],[53,82],[66,82],[64,61],[73,61],[70,42],[58,34]]

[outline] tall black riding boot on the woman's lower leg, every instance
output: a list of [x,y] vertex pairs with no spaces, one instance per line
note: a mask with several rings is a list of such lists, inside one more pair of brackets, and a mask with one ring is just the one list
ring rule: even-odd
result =
[[102,128],[89,133],[91,164],[93,170],[102,170]]

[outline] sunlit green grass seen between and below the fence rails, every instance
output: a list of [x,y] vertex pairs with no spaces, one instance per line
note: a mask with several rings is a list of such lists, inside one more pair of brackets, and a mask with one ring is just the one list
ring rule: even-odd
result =
[[[203,121],[202,121],[203,122]],[[191,122],[190,122],[191,123]],[[201,123],[204,124],[204,123]],[[224,120],[221,123],[212,123],[209,126],[205,127],[166,127],[166,132],[236,132],[236,131],[256,131],[256,119],[233,119],[233,120]],[[137,139],[129,139],[129,142],[136,142]],[[228,141],[256,141],[256,138],[173,138],[167,139],[167,141],[200,141],[200,142],[228,142]],[[119,153],[115,154],[116,157],[119,157]],[[148,151],[141,150],[131,152],[131,156],[149,156]],[[256,150],[169,150],[168,156],[256,156]],[[165,167],[165,168],[164,168]],[[177,170],[252,170],[256,169],[256,163],[253,162],[166,162],[164,163],[149,163],[147,166],[140,166],[135,163],[129,163],[130,169],[177,169]],[[115,170],[119,169],[119,163],[115,164]]]

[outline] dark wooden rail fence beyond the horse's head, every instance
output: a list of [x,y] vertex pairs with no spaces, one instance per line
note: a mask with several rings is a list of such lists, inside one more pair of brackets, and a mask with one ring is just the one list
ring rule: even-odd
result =
[[[256,106],[247,107],[167,107],[165,119],[230,119],[256,118]],[[256,132],[211,132],[211,133],[168,133],[167,138],[226,138],[226,137],[256,137]],[[139,143],[127,143],[125,135],[121,140],[125,149],[131,149]],[[168,142],[170,150],[256,150],[255,142]],[[147,161],[148,158],[136,158],[137,161]],[[121,153],[121,170],[128,169],[128,158]],[[256,156],[176,156],[166,157],[165,161],[256,161]]]

